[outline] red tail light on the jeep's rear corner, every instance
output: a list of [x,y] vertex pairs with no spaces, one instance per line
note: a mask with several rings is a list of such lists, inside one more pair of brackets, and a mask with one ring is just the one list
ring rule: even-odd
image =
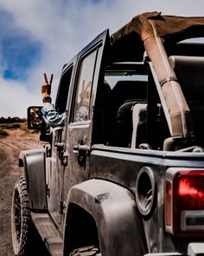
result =
[[169,168],[165,225],[177,236],[204,236],[204,169]]

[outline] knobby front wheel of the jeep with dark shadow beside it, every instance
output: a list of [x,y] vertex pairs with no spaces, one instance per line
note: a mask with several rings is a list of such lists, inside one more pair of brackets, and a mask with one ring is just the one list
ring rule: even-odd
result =
[[[24,177],[14,186],[11,206],[11,238],[16,256],[48,255],[31,220],[29,196]],[[36,246],[37,245],[37,246]]]

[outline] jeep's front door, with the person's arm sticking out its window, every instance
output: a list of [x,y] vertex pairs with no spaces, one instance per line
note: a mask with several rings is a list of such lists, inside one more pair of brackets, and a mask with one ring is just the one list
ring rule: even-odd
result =
[[[59,114],[67,113],[67,95],[71,89],[73,79],[74,62],[67,64],[61,75],[61,82],[56,96],[55,108]],[[48,210],[54,222],[59,225],[61,223],[61,200],[63,191],[63,177],[65,166],[65,147],[63,141],[66,140],[66,124],[51,128],[52,143],[46,145],[46,183],[48,191]]]

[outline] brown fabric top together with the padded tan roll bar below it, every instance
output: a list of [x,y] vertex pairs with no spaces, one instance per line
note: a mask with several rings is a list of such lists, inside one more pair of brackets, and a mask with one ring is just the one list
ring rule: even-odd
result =
[[190,110],[163,43],[204,36],[204,17],[162,16],[156,11],[143,13],[112,35],[112,45],[131,35],[137,38],[136,48],[140,56],[146,51],[150,57],[150,67],[160,84],[162,93],[159,95],[171,136],[194,136]]

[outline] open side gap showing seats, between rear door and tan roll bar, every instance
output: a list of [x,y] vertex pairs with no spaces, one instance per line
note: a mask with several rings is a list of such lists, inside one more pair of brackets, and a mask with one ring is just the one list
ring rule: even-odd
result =
[[[106,145],[140,148],[144,143],[150,143],[150,147],[154,149],[162,148],[164,138],[169,135],[169,129],[155,83],[149,76],[147,66],[142,62],[112,63],[105,70],[105,81],[112,89],[105,100]],[[148,84],[155,92],[151,91],[149,100]],[[138,112],[138,117],[135,115],[133,120],[133,109],[136,106],[138,109],[136,108],[134,113]],[[134,134],[132,123],[137,121]],[[155,140],[153,127],[160,131],[159,139]]]

